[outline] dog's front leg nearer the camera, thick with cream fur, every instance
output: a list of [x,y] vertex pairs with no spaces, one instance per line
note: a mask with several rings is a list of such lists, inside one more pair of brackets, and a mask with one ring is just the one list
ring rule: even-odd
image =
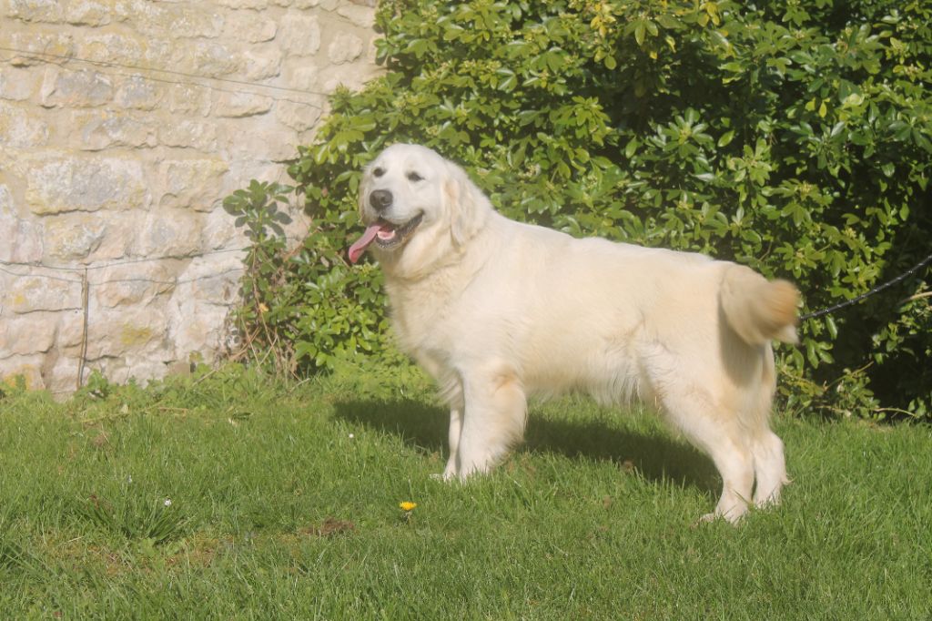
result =
[[487,472],[521,441],[528,408],[524,387],[508,369],[464,374],[463,393],[457,446],[460,478]]

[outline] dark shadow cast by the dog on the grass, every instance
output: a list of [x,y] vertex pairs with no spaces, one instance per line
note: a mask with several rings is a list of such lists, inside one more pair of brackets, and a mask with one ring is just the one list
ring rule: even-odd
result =
[[[338,401],[336,418],[380,433],[401,436],[405,444],[446,455],[448,415],[445,407],[415,400]],[[618,414],[624,419],[624,414]],[[553,452],[575,459],[609,461],[633,467],[650,481],[671,481],[711,495],[721,480],[712,462],[684,442],[656,428],[646,432],[610,424],[614,421],[562,421],[530,409],[525,442],[517,450]],[[633,425],[632,425],[633,426]]]

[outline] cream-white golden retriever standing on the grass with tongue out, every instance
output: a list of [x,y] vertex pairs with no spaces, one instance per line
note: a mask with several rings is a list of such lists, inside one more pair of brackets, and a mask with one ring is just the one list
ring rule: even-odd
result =
[[400,344],[449,404],[445,478],[499,462],[522,438],[529,394],[579,390],[656,406],[712,458],[723,485],[706,518],[779,499],[771,339],[796,342],[792,284],[514,222],[423,146],[385,149],[360,192],[366,229],[349,258],[372,249]]

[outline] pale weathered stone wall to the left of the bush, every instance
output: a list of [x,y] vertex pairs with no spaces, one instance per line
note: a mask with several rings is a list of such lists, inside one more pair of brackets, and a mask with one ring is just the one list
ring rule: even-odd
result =
[[326,95],[377,74],[374,4],[0,0],[0,377],[68,393],[224,352],[221,202],[287,182]]

